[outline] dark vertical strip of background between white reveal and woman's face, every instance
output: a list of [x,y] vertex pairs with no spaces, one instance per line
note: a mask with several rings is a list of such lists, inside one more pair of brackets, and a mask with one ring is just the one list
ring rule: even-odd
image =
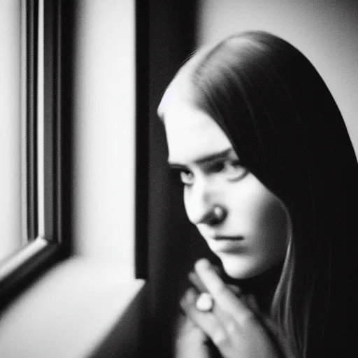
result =
[[[173,324],[187,273],[198,257],[212,255],[189,224],[167,166],[164,127],[157,106],[180,65],[194,49],[196,2],[149,3],[148,308],[145,357],[171,357]],[[212,257],[212,256],[210,256]]]

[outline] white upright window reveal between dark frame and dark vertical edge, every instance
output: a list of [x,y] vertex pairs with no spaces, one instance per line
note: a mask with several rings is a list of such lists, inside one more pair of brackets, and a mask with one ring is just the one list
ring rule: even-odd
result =
[[134,269],[134,1],[77,1],[75,245]]

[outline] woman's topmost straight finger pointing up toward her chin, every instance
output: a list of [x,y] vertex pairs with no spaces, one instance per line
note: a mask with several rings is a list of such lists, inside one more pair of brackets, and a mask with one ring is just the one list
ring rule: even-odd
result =
[[207,259],[200,259],[195,264],[195,271],[208,289],[208,292],[213,296],[215,303],[234,317],[238,324],[245,325],[249,322],[256,324],[256,317],[252,310],[235,296],[234,292],[227,287],[212,267]]

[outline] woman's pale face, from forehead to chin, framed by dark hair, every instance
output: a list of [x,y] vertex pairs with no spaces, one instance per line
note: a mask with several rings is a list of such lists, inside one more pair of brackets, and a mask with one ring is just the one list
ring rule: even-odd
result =
[[[224,131],[185,102],[164,111],[169,164],[180,170],[185,210],[224,270],[250,278],[285,259],[289,216],[282,202],[240,164]],[[223,215],[215,215],[215,207]]]

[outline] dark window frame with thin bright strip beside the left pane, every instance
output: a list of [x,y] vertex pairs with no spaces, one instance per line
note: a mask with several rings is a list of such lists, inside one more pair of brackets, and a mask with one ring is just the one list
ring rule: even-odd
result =
[[[62,238],[61,215],[61,2],[22,0],[21,3],[21,214],[22,241],[25,242],[17,252],[0,263],[0,307],[6,306],[43,269],[69,255],[69,245]],[[43,44],[38,44],[38,39],[41,38],[38,36],[40,21],[43,21]],[[41,53],[40,58],[38,53]],[[43,76],[39,78],[41,72]],[[42,98],[38,97],[41,91]],[[43,131],[43,138],[38,136],[39,115],[43,116],[43,127],[40,129]],[[39,143],[40,139],[43,139],[43,144]],[[40,144],[42,150],[38,152]],[[39,157],[41,155],[43,159]],[[42,178],[42,183],[38,182],[39,178]],[[39,205],[40,191],[43,192],[42,208]],[[39,232],[38,227],[40,215],[43,215],[43,233]]]

